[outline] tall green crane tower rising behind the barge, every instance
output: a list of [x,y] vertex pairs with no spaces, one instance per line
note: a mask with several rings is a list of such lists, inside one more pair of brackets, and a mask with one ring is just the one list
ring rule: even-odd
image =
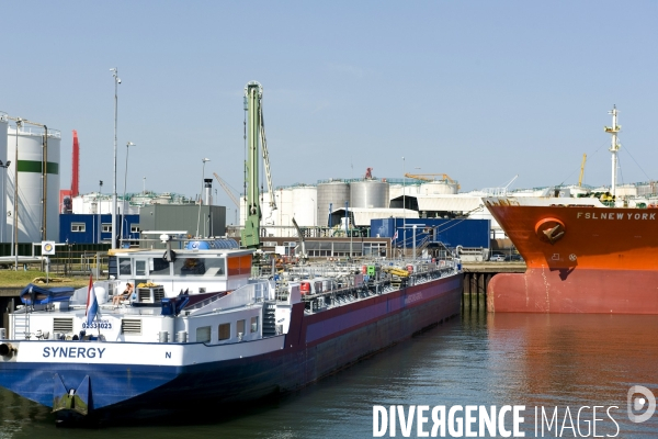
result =
[[261,206],[258,190],[258,166],[259,149],[262,145],[263,164],[268,179],[268,190],[270,191],[270,206],[272,211],[276,210],[274,201],[274,188],[272,184],[272,175],[270,172],[270,157],[268,154],[268,140],[265,139],[265,125],[263,122],[263,87],[251,81],[245,87],[245,111],[247,112],[246,137],[247,137],[247,161],[245,162],[245,194],[247,205],[247,217],[245,218],[245,228],[241,235],[241,245],[247,248],[259,248],[260,243],[260,221]]

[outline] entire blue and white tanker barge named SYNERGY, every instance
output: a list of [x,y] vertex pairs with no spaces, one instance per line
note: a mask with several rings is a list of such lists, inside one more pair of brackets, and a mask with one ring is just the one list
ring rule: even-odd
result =
[[[231,404],[299,389],[460,313],[454,260],[311,264],[277,280],[251,279],[251,261],[237,248],[135,251],[117,256],[116,279],[68,297],[26,289],[0,340],[0,385],[58,418]],[[113,304],[127,283],[133,296]]]

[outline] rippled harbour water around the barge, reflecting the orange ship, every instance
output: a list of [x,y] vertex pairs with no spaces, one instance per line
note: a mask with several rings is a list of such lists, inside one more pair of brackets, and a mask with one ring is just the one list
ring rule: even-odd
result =
[[[658,436],[658,414],[632,423],[627,395],[633,385],[658,395],[657,334],[658,316],[465,311],[302,391],[231,414],[188,407],[178,416],[109,424],[91,432],[58,429],[49,409],[3,390],[0,438],[367,438],[377,405],[387,410],[400,405],[406,415],[422,405],[430,412],[436,406],[484,405],[499,412],[506,405],[524,406],[519,428],[525,437],[650,438]],[[430,412],[424,413],[428,432]],[[642,407],[634,413],[642,414]],[[511,412],[503,420],[511,431]],[[412,421],[409,437],[417,437],[417,418]],[[395,437],[405,436],[398,419]],[[461,436],[446,431],[445,437]]]

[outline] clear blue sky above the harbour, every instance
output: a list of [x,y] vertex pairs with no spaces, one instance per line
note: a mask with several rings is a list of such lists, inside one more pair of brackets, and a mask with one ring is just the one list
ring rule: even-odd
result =
[[[656,1],[22,1],[0,3],[0,110],[81,143],[82,192],[194,195],[242,187],[242,90],[264,87],[275,185],[407,172],[463,190],[610,181],[620,109],[624,182],[657,179]],[[639,164],[639,165],[638,165]],[[352,170],[353,165],[353,170]],[[416,169],[416,168],[421,168]],[[217,187],[217,184],[215,184]],[[230,206],[219,191],[219,203]]]

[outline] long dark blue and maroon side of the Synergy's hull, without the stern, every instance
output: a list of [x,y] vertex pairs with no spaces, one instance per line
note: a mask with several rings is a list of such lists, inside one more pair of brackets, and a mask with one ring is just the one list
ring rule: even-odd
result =
[[[384,316],[373,314],[376,307],[386,309],[387,306],[390,309],[396,302],[405,303],[419,293],[428,299],[392,309]],[[462,278],[456,275],[314,315],[304,315],[303,305],[298,304],[293,309],[284,349],[256,358],[186,367],[171,382],[128,403],[152,407],[154,403],[160,402],[161,408],[171,409],[197,404],[200,399],[225,405],[295,391],[458,315],[461,294]],[[371,318],[339,329],[338,336],[308,340],[313,325],[338,329],[336,318],[349,313],[356,313],[356,316],[370,314]],[[293,331],[295,326],[298,331]],[[175,406],[162,402],[175,402]],[[122,405],[109,408],[123,410]]]

